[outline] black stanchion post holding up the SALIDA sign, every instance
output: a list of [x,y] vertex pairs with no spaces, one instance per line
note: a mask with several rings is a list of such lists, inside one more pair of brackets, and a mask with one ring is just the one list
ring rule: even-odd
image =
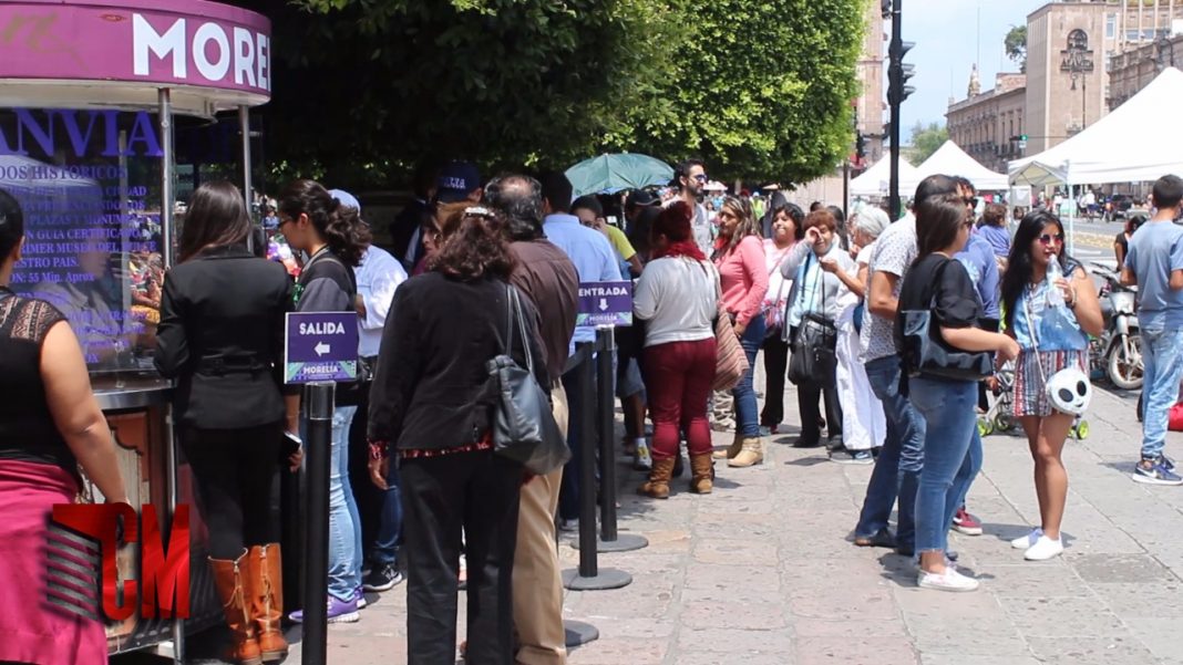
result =
[[304,640],[300,661],[324,665],[328,659],[329,582],[329,448],[332,445],[334,391],[337,384],[316,382],[304,386],[308,417],[308,550],[304,555]]

